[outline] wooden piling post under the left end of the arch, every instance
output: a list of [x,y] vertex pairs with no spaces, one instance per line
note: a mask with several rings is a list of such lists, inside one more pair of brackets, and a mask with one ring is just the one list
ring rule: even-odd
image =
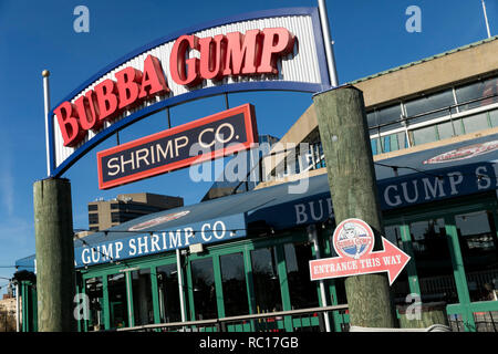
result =
[[46,178],[33,185],[38,330],[75,331],[71,184]]

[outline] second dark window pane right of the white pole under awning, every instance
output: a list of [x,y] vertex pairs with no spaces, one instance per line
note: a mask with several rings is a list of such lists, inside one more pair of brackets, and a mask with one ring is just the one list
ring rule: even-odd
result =
[[248,314],[249,302],[242,253],[221,256],[219,262],[224,287],[225,315]]

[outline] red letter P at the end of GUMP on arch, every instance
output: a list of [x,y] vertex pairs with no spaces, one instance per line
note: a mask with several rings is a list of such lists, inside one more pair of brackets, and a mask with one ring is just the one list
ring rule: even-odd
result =
[[264,35],[264,41],[258,73],[278,74],[277,58],[292,51],[295,38],[283,28],[264,29],[262,34]]

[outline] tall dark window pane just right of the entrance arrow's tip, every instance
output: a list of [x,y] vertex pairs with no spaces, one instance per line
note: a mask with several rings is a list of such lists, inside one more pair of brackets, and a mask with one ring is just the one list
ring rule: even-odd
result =
[[422,301],[458,302],[444,219],[409,225]]

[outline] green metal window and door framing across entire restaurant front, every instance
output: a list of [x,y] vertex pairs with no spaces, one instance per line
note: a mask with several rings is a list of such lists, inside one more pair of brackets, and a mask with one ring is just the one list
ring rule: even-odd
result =
[[[421,211],[422,210],[422,211]],[[396,210],[384,216],[386,226],[396,226],[400,228],[403,250],[412,257],[412,261],[406,267],[408,275],[409,291],[413,293],[421,293],[418,284],[418,275],[416,271],[416,259],[412,249],[412,238],[409,233],[409,223],[414,221],[425,220],[428,218],[444,218],[445,228],[448,241],[448,248],[452,256],[452,264],[454,269],[454,278],[457,288],[459,303],[447,305],[448,314],[460,314],[466,331],[476,331],[474,313],[480,311],[498,311],[498,302],[471,302],[468,291],[467,278],[465,273],[464,260],[461,257],[460,244],[458,241],[455,216],[478,210],[489,210],[492,212],[495,225],[498,226],[498,204],[495,192],[487,195],[476,195],[466,198],[455,199],[454,201],[445,201],[444,208],[437,205],[429,205],[424,208],[415,207],[412,209]],[[326,228],[318,228],[319,243],[322,257],[331,257],[332,248],[330,243],[330,235],[332,232],[331,226]],[[281,287],[282,310],[291,310],[291,298],[289,292],[289,284],[287,279],[287,264],[284,257],[284,244],[294,242],[308,241],[308,235],[304,229],[293,229],[292,231],[273,235],[271,237],[249,238],[238,240],[230,243],[215,244],[207,249],[207,251],[198,254],[188,254],[184,258],[184,296],[188,299],[186,302],[187,321],[195,319],[194,292],[191,281],[190,262],[198,259],[211,258],[215,275],[215,289],[217,293],[217,309],[218,316],[225,317],[225,304],[222,294],[222,282],[220,271],[220,257],[230,253],[242,253],[246,275],[246,290],[248,293],[248,309],[250,313],[256,313],[256,298],[252,282],[252,264],[250,252],[267,247],[274,247],[277,250],[277,270]],[[314,257],[314,251],[312,252]],[[81,283],[77,289],[81,292],[85,291],[84,283],[90,278],[101,277],[103,285],[103,324],[104,329],[111,329],[111,309],[108,303],[107,277],[124,271],[126,279],[126,302],[128,309],[128,325],[135,324],[133,311],[133,287],[131,270],[135,269],[151,269],[151,284],[153,296],[154,323],[160,323],[158,284],[157,284],[157,267],[166,264],[176,264],[176,256],[173,254],[157,254],[153,257],[127,260],[126,262],[116,262],[111,264],[95,266],[90,269],[81,269]],[[126,270],[128,269],[128,270]],[[335,305],[338,303],[336,284],[334,280],[325,281],[328,303]],[[20,284],[20,293],[22,296],[22,331],[31,332],[37,330],[37,292],[35,287],[28,281],[22,281]],[[322,303],[319,283],[317,282],[317,295]],[[185,299],[184,298],[184,299]],[[347,322],[347,315],[334,312],[331,314],[334,331],[341,331],[341,325]],[[313,319],[317,320],[317,319]],[[311,321],[313,322],[313,321]],[[318,325],[318,320],[308,325]],[[278,321],[278,326],[292,331],[299,323],[290,317],[284,317]],[[305,321],[301,322],[305,324]],[[80,331],[87,331],[87,321],[79,323]],[[215,331],[215,329],[212,329]],[[255,331],[256,321],[251,321],[243,326],[231,326],[232,331]]]

